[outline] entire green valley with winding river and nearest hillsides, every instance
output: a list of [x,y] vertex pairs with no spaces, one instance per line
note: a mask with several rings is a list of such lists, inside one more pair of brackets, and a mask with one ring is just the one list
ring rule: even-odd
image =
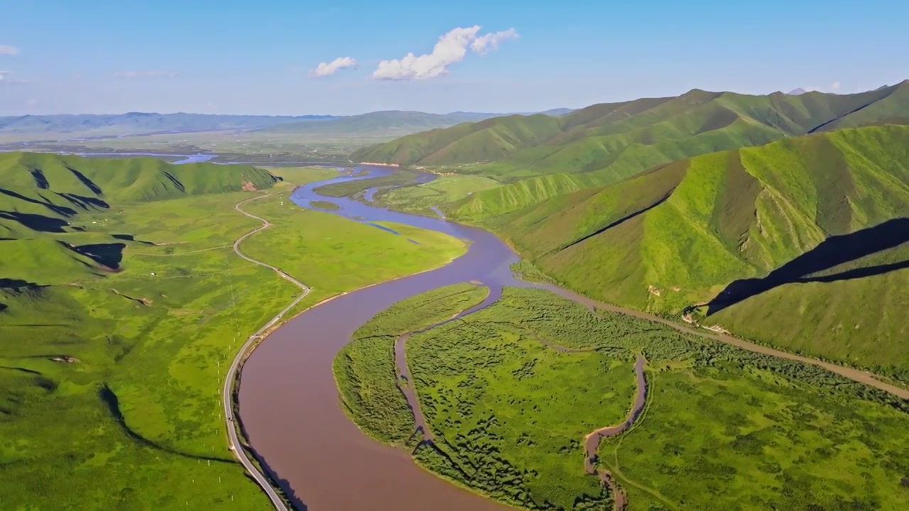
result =
[[909,132],[814,131],[605,184],[0,155],[0,424],[73,445],[6,443],[13,502],[267,507],[239,444],[279,509],[897,509]]

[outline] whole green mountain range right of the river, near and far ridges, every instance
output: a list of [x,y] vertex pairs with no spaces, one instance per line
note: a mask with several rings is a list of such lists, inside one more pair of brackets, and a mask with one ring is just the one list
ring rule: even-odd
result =
[[[352,157],[441,175],[388,204],[435,197],[585,295],[909,382],[909,81],[854,95],[694,89]],[[483,186],[455,193],[467,179]]]

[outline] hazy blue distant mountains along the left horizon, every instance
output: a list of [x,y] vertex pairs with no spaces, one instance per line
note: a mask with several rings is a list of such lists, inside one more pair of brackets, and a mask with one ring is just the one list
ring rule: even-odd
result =
[[129,112],[119,115],[21,115],[0,117],[0,133],[35,135],[136,135],[226,129],[257,129],[284,123],[319,121],[332,115],[206,115]]

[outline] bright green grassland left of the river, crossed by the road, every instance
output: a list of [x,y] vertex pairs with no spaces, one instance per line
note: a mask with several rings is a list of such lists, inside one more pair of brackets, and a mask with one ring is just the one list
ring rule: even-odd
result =
[[[255,192],[231,190],[267,188],[275,176],[148,158],[0,158],[0,182],[13,194],[0,195],[2,237],[12,238],[0,241],[3,507],[269,506],[227,450],[220,389],[245,336],[298,293],[231,249],[258,225],[234,210]],[[282,174],[302,184],[333,172]],[[312,277],[312,299],[439,266],[464,250],[433,233],[407,233],[415,245],[304,211],[278,184],[247,205],[273,227],[243,248]],[[357,271],[330,286],[354,266],[351,252],[335,251],[352,239],[374,257],[357,259]],[[301,255],[329,253],[335,266],[295,266]]]

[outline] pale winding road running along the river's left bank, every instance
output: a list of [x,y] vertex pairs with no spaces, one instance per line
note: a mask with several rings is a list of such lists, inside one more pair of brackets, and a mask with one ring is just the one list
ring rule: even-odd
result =
[[234,399],[233,399],[232,391],[234,388],[234,383],[236,380],[237,373],[240,370],[240,366],[243,365],[243,361],[245,360],[245,356],[247,355],[247,352],[249,351],[250,346],[253,346],[255,344],[255,342],[258,340],[259,336],[261,336],[262,333],[265,332],[265,330],[271,328],[272,326],[275,326],[275,324],[278,321],[280,321],[281,318],[284,317],[288,311],[290,311],[292,308],[294,308],[297,304],[300,303],[301,300],[303,300],[307,295],[309,295],[309,287],[306,286],[304,283],[300,282],[299,280],[296,280],[292,276],[285,274],[283,271],[281,271],[281,268],[278,268],[276,266],[271,266],[267,263],[263,263],[262,261],[256,260],[256,259],[250,257],[249,255],[245,255],[240,250],[240,244],[243,243],[243,241],[247,237],[249,237],[251,235],[255,235],[255,233],[264,231],[265,229],[267,229],[268,227],[271,226],[271,223],[268,220],[265,220],[265,218],[260,218],[259,216],[246,213],[240,206],[244,205],[247,202],[254,201],[255,199],[261,199],[262,197],[265,197],[265,196],[268,196],[268,195],[255,196],[255,197],[246,199],[246,200],[241,201],[241,202],[237,203],[236,205],[234,205],[234,209],[239,211],[241,214],[249,216],[250,218],[255,218],[256,220],[262,222],[262,225],[256,227],[252,231],[249,231],[245,235],[241,235],[240,237],[236,238],[236,241],[234,242],[234,252],[236,255],[243,257],[245,260],[249,261],[250,263],[253,263],[258,266],[265,266],[266,268],[271,269],[276,274],[278,274],[278,276],[281,276],[281,278],[283,278],[286,281],[290,282],[291,284],[294,284],[295,286],[299,287],[303,291],[303,293],[301,293],[300,296],[297,296],[294,299],[294,301],[290,303],[290,305],[286,306],[284,308],[284,310],[282,310],[275,317],[273,317],[268,323],[265,324],[265,326],[263,326],[262,328],[259,328],[259,330],[255,334],[253,334],[252,336],[249,336],[249,338],[246,339],[245,344],[237,352],[236,356],[234,357],[234,361],[231,363],[230,367],[227,369],[227,377],[225,378],[225,386],[224,386],[224,392],[223,392],[222,398],[224,401],[223,405],[224,405],[224,410],[225,410],[225,422],[227,424],[227,436],[230,438],[231,452],[234,453],[234,456],[240,462],[240,464],[245,467],[245,469],[249,473],[249,475],[255,479],[255,482],[258,483],[259,486],[262,486],[262,489],[265,490],[265,493],[268,495],[268,498],[271,499],[272,504],[275,505],[275,509],[277,509],[278,511],[288,511],[287,506],[284,503],[284,500],[282,500],[281,496],[279,496],[277,494],[277,492],[275,491],[275,488],[268,481],[268,478],[265,477],[265,475],[263,475],[262,472],[259,471],[259,469],[253,464],[253,462],[249,459],[249,457],[246,456],[243,446],[240,443],[240,438],[239,438],[239,436],[237,436],[237,433],[236,433],[237,426],[235,425],[235,421],[234,421],[234,406],[233,406]]

